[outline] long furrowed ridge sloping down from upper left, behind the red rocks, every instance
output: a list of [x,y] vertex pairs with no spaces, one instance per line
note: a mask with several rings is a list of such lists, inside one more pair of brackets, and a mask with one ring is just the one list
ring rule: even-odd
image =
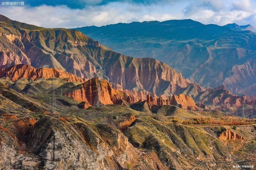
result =
[[11,20],[6,26],[5,20],[8,19],[0,20],[2,67],[26,64],[35,68],[59,68],[86,79],[98,75],[124,89],[145,89],[159,96],[170,96],[177,88],[188,85],[202,88],[162,62],[111,51],[80,31],[38,27],[35,28],[39,30],[23,30],[11,25]]

